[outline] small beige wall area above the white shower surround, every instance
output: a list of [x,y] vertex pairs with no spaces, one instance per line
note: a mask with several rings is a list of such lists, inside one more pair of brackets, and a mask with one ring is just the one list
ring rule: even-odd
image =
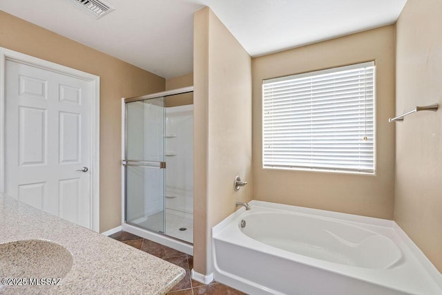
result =
[[[166,90],[193,86],[193,73],[166,79]],[[166,98],[166,107],[193,104],[193,93],[171,95]]]

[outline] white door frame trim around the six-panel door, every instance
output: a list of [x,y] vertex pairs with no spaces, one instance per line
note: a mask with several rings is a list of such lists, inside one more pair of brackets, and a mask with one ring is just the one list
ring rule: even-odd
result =
[[15,61],[43,70],[75,77],[90,83],[92,101],[90,103],[90,225],[99,232],[99,76],[68,68],[51,61],[18,53],[0,47],[0,191],[5,189],[5,91],[6,61]]

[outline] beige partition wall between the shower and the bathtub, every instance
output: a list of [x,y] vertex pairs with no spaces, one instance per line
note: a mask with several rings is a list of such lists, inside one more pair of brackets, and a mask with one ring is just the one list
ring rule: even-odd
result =
[[251,58],[209,8],[194,15],[194,269],[211,273],[211,227],[249,201]]

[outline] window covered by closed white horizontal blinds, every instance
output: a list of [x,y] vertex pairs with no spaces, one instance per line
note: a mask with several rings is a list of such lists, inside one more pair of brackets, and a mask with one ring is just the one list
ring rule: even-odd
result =
[[374,61],[264,80],[263,168],[374,173]]

